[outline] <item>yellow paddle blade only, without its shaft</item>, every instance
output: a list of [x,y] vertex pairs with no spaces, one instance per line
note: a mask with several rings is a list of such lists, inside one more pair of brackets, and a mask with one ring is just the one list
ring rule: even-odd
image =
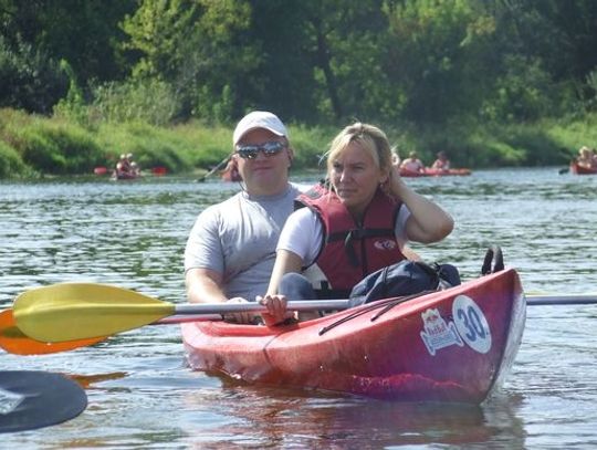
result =
[[60,283],[23,292],[13,314],[29,337],[64,342],[138,328],[175,314],[175,305],[107,284]]

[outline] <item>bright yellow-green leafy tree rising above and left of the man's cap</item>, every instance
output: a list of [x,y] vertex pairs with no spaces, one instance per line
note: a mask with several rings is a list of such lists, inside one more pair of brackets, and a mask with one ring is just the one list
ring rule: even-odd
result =
[[244,1],[144,0],[124,21],[125,49],[143,55],[134,76],[170,84],[181,118],[229,118],[235,81],[260,57],[241,39],[249,23]]

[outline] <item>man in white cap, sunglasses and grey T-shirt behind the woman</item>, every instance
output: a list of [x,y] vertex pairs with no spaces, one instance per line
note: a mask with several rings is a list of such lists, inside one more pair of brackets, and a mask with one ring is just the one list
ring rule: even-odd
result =
[[[294,157],[289,133],[274,114],[244,116],[232,145],[243,190],[206,208],[192,227],[185,250],[189,302],[239,303],[263,295],[280,231],[300,193],[289,181]],[[253,314],[231,318],[250,323]]]

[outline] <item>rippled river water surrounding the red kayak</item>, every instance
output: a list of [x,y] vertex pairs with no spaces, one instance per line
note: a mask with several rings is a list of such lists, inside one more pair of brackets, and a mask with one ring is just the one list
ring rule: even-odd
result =
[[[293,177],[311,182],[316,177]],[[527,293],[596,293],[597,176],[557,168],[411,179],[457,227],[415,249],[476,276],[502,247]],[[190,178],[0,184],[0,307],[39,285],[111,283],[185,302],[182,252],[197,213],[239,189]],[[255,387],[191,371],[177,325],[145,326],[0,369],[63,373],[88,396],[77,418],[2,436],[6,448],[594,448],[597,305],[528,306],[503,388],[479,407],[398,404]],[[404,447],[401,447],[404,448]]]

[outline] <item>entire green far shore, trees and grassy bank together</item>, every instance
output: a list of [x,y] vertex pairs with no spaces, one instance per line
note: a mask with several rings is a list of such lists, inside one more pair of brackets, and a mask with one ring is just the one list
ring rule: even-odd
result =
[[[597,2],[4,0],[0,179],[93,175],[122,154],[201,177],[252,109],[320,169],[355,121],[404,158],[568,166],[597,146]],[[106,171],[107,171],[106,170]]]

